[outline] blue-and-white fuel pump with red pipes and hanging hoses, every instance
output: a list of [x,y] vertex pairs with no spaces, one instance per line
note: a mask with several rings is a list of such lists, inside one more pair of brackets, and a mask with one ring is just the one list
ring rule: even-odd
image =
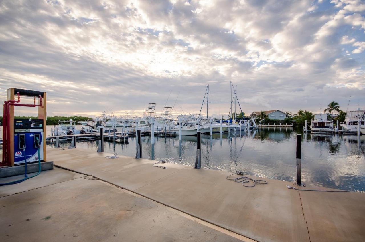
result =
[[[34,103],[21,103],[21,96],[34,98]],[[38,119],[15,119],[15,106],[38,107]],[[9,88],[8,101],[4,102],[3,159],[0,166],[25,165],[25,174],[23,179],[8,184],[16,184],[31,178],[27,176],[27,163],[38,162],[39,172],[35,174],[38,175],[41,172],[41,162],[45,160],[46,92]]]

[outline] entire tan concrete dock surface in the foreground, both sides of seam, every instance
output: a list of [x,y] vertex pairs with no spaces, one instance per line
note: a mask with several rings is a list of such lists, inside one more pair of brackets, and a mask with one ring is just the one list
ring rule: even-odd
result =
[[223,171],[107,155],[47,149],[68,171],[0,187],[1,241],[365,241],[364,193],[245,188]]

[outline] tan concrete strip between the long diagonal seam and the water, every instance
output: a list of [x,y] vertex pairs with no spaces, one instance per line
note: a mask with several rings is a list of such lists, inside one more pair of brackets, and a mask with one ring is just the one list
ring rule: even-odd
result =
[[229,173],[223,171],[171,163],[160,169],[152,166],[153,160],[107,155],[80,148],[47,149],[56,166],[92,175],[254,241],[365,241],[364,193],[297,191],[286,188],[291,182],[272,179],[245,188],[228,181]]

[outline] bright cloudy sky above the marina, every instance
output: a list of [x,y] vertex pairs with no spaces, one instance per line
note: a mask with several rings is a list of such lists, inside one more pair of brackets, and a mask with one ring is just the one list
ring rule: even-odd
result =
[[188,114],[209,84],[222,117],[232,81],[246,114],[365,109],[364,31],[364,0],[3,0],[0,100],[15,87],[47,92],[48,116]]

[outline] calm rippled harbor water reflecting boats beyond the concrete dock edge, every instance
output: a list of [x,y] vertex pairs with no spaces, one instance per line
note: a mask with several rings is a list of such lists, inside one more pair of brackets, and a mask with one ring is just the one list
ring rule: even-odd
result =
[[[47,127],[51,129],[52,127]],[[299,131],[300,132],[300,131]],[[49,132],[50,134],[50,132]],[[259,128],[250,131],[202,136],[201,166],[207,169],[237,171],[284,181],[295,180],[297,131],[292,128]],[[360,141],[360,143],[359,143]],[[194,166],[196,137],[165,138],[142,136],[143,158]],[[97,149],[98,141],[78,141],[77,147]],[[136,138],[129,144],[104,142],[104,151],[135,156]],[[48,144],[47,148],[53,147]],[[69,143],[61,143],[68,147]],[[305,184],[327,188],[365,191],[365,135],[304,134],[302,139],[302,179]]]

